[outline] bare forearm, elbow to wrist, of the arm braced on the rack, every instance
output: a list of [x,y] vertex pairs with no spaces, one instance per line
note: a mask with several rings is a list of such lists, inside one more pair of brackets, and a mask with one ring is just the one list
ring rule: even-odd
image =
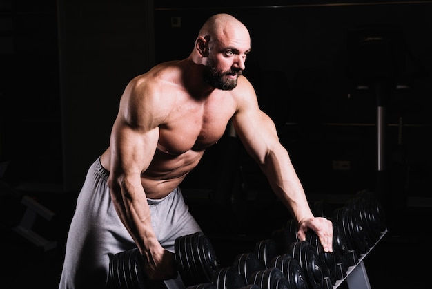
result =
[[291,163],[288,152],[282,145],[269,151],[261,165],[273,192],[290,210],[297,221],[312,218],[302,183]]

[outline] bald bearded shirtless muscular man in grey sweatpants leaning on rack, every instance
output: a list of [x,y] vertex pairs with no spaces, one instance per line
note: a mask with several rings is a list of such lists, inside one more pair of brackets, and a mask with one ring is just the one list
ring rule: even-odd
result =
[[242,76],[251,51],[247,28],[210,17],[192,53],[135,77],[121,97],[110,146],[90,167],[72,218],[59,288],[105,288],[110,256],[139,248],[149,279],[177,274],[178,236],[200,231],[179,185],[232,122],[275,194],[299,224],[332,249],[332,225],[315,218],[275,125]]

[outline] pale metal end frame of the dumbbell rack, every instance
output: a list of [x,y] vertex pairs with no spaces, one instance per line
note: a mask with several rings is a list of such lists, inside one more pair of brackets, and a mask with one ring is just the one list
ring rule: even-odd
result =
[[[377,243],[381,241],[386,233],[387,230],[384,230],[384,232],[381,233],[380,239],[377,241]],[[337,280],[333,286],[333,289],[339,287],[344,281],[346,281],[348,288],[371,289],[371,284],[369,283],[369,278],[363,259],[367,256],[367,254],[369,254],[369,252],[371,252],[371,250],[373,250],[373,248],[375,248],[377,243],[375,243],[375,245],[373,245],[368,252],[360,255],[358,262],[348,268],[346,271],[346,277],[344,277],[344,279]]]

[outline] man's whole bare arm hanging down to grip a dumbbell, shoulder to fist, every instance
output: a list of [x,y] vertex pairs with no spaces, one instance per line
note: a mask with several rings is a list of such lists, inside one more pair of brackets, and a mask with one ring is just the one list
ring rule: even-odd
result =
[[174,257],[157,241],[141,185],[141,173],[150,165],[159,138],[159,124],[151,113],[157,111],[154,97],[142,86],[132,81],[121,97],[110,138],[108,183],[116,212],[146,261],[148,278],[167,279],[176,274]]

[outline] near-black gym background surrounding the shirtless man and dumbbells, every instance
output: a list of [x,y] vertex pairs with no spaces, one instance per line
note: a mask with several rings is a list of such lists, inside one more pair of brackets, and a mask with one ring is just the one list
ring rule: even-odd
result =
[[[311,205],[342,206],[363,189],[380,196],[389,232],[365,259],[371,286],[426,288],[432,1],[0,0],[1,288],[57,287],[77,193],[108,145],[124,86],[153,64],[187,57],[217,12],[251,31],[245,75]],[[384,46],[353,45],[377,31]],[[291,218],[233,138],[210,148],[182,188],[221,265]],[[48,250],[14,230],[38,205],[52,216],[32,224],[55,242]]]

